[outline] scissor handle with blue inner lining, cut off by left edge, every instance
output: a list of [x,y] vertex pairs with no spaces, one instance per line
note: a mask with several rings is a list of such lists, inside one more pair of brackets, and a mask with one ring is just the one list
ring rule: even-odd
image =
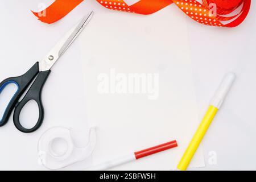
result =
[[30,83],[34,80],[35,76],[38,75],[39,72],[39,63],[36,62],[24,75],[18,77],[10,77],[3,80],[0,83],[0,93],[5,86],[14,83],[18,86],[18,90],[14,94],[13,98],[11,98],[9,104],[7,105],[5,112],[3,113],[2,119],[0,120],[0,127],[5,125],[10,117],[11,111],[13,111],[16,102],[19,100],[20,96],[25,92]]

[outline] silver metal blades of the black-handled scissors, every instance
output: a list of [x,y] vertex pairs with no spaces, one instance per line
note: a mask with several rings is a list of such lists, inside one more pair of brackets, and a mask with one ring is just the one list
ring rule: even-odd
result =
[[51,51],[47,54],[45,59],[43,59],[39,63],[40,71],[47,71],[51,69],[53,64],[59,59],[61,55],[68,49],[69,46],[73,43],[73,41],[79,36],[79,34],[84,30],[86,24],[90,22],[92,19],[93,11],[88,15],[84,16],[75,27],[71,28],[67,32],[67,34],[56,44],[55,47],[51,49]]

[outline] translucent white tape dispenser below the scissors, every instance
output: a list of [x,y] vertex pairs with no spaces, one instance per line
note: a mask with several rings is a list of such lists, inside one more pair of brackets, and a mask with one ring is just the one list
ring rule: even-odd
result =
[[[63,150],[56,150],[55,144],[61,141],[65,144]],[[38,142],[39,162],[48,169],[60,169],[73,163],[89,158],[96,144],[96,131],[89,131],[89,142],[85,147],[76,147],[71,136],[71,129],[53,127],[47,130]]]

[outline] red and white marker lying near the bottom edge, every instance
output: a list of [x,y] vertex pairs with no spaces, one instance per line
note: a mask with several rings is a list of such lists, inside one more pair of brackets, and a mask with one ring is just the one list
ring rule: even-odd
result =
[[174,148],[174,147],[177,147],[176,140],[160,144],[159,146],[155,146],[155,147],[147,148],[145,150],[134,152],[134,153],[131,153],[131,154],[128,154],[125,156],[121,156],[117,159],[113,159],[113,160],[110,160],[110,161],[102,163],[102,164],[98,164],[97,166],[90,168],[90,170],[104,171],[106,169],[113,168],[113,167],[131,162],[131,161],[134,161],[137,159],[141,159],[148,155],[156,154],[158,152],[162,152],[162,151],[168,150],[170,148]]

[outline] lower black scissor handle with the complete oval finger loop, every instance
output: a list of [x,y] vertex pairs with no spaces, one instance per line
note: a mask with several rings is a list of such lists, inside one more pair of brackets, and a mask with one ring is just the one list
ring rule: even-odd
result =
[[[34,83],[32,84],[31,88],[28,89],[28,92],[26,93],[24,98],[20,102],[17,102],[15,106],[14,115],[13,115],[14,125],[19,131],[22,131],[23,133],[34,132],[38,130],[43,123],[44,107],[41,100],[41,93],[42,93],[44,83],[46,82],[50,72],[51,71],[39,72],[38,77],[36,77]],[[31,100],[36,101],[36,103],[38,104],[39,118],[38,118],[38,122],[36,122],[36,125],[34,127],[32,127],[31,129],[26,129],[21,125],[19,121],[19,115],[23,107],[27,104],[28,101],[31,101]]]

